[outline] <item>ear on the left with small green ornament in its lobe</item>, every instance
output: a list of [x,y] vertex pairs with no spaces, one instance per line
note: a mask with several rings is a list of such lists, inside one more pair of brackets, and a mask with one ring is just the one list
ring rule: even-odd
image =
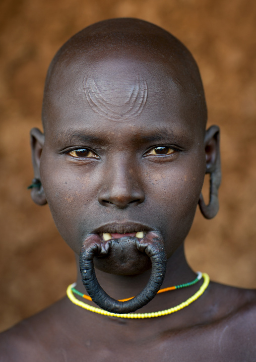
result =
[[40,177],[40,158],[44,145],[44,134],[38,130],[38,128],[32,128],[30,131],[30,145],[32,151],[34,177],[39,185],[38,187],[33,187],[31,189],[31,197],[37,205],[45,205],[47,204],[47,200],[41,185]]

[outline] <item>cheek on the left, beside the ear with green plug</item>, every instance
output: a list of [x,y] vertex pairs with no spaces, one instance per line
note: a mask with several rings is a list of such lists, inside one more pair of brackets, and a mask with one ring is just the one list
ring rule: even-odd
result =
[[[97,195],[93,175],[89,177],[85,172],[74,172],[74,167],[56,166],[56,162],[42,160],[41,179],[60,235],[75,252],[79,252],[80,225],[89,219],[91,203]],[[86,229],[86,225],[83,229]]]

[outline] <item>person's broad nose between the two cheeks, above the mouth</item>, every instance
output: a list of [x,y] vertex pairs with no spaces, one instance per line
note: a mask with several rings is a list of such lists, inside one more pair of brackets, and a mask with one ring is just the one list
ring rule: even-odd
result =
[[113,162],[112,167],[106,167],[104,182],[98,194],[101,205],[115,205],[119,209],[141,204],[145,194],[140,184],[139,174],[131,166],[123,162]]

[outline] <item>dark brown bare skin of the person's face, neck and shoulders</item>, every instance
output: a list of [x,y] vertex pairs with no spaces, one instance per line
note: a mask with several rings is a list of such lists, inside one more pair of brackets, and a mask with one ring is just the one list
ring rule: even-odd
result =
[[[149,27],[136,20],[125,24],[143,36]],[[105,22],[109,32],[115,26]],[[92,35],[90,30],[86,34]],[[126,34],[121,55],[118,36],[109,47],[103,41],[100,51],[95,41],[98,47],[92,46],[90,55],[73,39],[68,47],[80,49],[79,55],[62,51],[53,64],[44,98],[44,134],[31,131],[35,177],[42,182],[32,198],[49,204],[77,259],[86,237],[106,233],[110,223],[118,225],[119,233],[156,230],[168,257],[162,285],[167,287],[196,276],[183,244],[205,172],[218,167],[219,129],[205,131],[204,102],[195,102],[201,81],[190,55],[170,62],[165,35],[150,49],[143,42],[135,46],[133,36]],[[171,44],[177,53],[183,49],[176,40]],[[157,58],[154,46],[163,56]],[[189,62],[194,83],[181,71]],[[138,263],[136,252],[125,263],[106,257],[95,265],[100,284],[116,299],[140,292],[151,272],[148,263]],[[138,312],[176,306],[200,285],[159,294]],[[76,288],[86,293],[80,272]],[[85,311],[65,297],[3,333],[0,360],[253,361],[255,301],[254,290],[211,282],[195,303],[177,313],[124,320]]]

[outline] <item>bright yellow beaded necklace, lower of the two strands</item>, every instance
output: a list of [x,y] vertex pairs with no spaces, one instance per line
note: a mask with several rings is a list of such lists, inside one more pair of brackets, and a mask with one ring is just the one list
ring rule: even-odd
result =
[[165,309],[164,311],[160,311],[160,312],[118,314],[118,313],[107,312],[100,308],[92,307],[89,304],[86,304],[83,301],[80,301],[79,299],[77,299],[74,296],[72,289],[76,286],[76,283],[70,284],[68,286],[67,295],[68,295],[69,299],[72,301],[72,303],[76,304],[77,306],[82,307],[82,308],[86,309],[87,311],[102,314],[104,316],[119,317],[119,318],[131,318],[131,319],[154,318],[154,317],[166,316],[168,314],[180,311],[181,309],[189,306],[189,304],[193,303],[193,301],[197,300],[204,293],[204,291],[206,290],[206,288],[208,287],[209,282],[210,282],[210,278],[209,278],[208,274],[202,273],[201,275],[203,276],[204,282],[201,285],[201,287],[199,288],[199,290],[194,295],[190,296],[190,298],[186,299],[185,301],[183,301],[183,303],[180,303],[178,306],[172,307],[169,309]]

